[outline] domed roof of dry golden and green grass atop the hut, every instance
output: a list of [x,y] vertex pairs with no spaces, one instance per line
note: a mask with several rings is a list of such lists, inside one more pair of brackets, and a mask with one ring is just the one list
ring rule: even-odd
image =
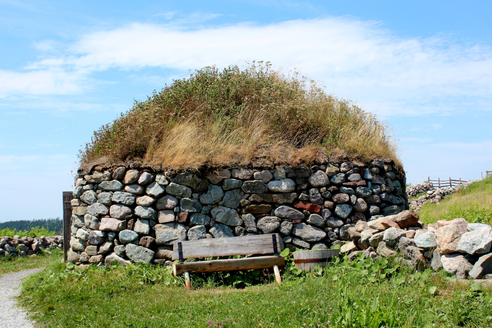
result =
[[81,163],[141,161],[176,169],[395,158],[388,128],[314,81],[264,63],[205,67],[94,132]]

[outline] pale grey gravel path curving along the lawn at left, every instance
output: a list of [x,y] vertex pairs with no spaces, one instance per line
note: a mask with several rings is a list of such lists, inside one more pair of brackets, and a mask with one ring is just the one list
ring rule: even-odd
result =
[[7,273],[0,276],[0,327],[33,328],[26,312],[16,307],[14,297],[19,295],[21,279],[43,268]]

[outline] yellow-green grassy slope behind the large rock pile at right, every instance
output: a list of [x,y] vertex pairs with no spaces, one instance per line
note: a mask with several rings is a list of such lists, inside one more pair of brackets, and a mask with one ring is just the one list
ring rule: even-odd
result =
[[462,217],[468,222],[492,224],[492,177],[446,196],[439,204],[424,205],[419,216],[425,223]]

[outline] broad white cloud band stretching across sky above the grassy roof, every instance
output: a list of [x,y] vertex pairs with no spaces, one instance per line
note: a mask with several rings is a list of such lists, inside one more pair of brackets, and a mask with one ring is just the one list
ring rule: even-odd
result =
[[[110,68],[188,69],[269,60],[322,80],[329,92],[370,111],[425,115],[488,110],[492,53],[443,37],[403,38],[376,22],[328,17],[202,29],[135,23],[84,35],[64,56],[0,72],[0,89],[32,94],[80,93],[92,72]],[[2,78],[3,74],[9,74]],[[9,83],[7,83],[9,81]],[[45,81],[45,83],[40,83]]]

